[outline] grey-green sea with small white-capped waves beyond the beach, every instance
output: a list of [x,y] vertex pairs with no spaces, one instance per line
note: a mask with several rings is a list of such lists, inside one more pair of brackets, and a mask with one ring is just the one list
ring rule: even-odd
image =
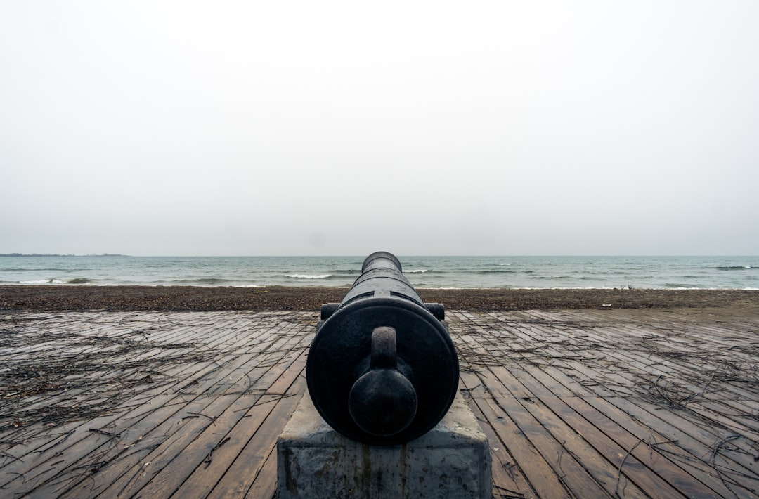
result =
[[[351,286],[363,257],[0,257],[0,284]],[[419,288],[759,289],[759,257],[404,257]]]

